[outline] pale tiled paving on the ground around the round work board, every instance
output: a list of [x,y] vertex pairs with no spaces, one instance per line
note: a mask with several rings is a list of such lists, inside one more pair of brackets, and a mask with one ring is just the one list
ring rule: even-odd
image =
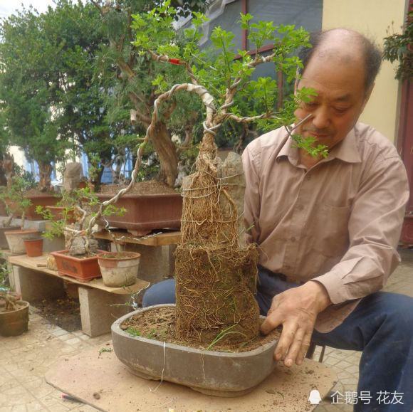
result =
[[[413,297],[413,250],[402,251],[402,263],[385,290]],[[63,399],[61,391],[46,384],[43,376],[56,360],[103,344],[108,339],[110,334],[91,339],[81,331],[66,332],[31,309],[26,334],[13,338],[0,337],[0,412],[98,411],[83,403]],[[318,352],[314,359],[318,359]],[[359,362],[359,352],[326,349],[324,363],[335,369],[340,379],[335,390],[343,394],[357,391]],[[331,405],[323,401],[316,411],[352,411],[352,406],[349,403]]]

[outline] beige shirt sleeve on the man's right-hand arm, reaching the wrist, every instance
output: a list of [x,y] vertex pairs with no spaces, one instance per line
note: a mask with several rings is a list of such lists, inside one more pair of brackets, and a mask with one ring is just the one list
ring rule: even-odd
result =
[[397,244],[409,199],[404,164],[399,157],[376,159],[365,174],[352,204],[347,253],[313,279],[324,285],[333,304],[382,289],[400,261]]

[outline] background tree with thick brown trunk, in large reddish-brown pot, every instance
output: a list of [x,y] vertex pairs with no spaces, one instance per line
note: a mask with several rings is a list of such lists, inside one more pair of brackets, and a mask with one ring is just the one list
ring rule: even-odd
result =
[[[184,73],[174,65],[165,66],[150,55],[140,54],[140,47],[132,43],[134,31],[132,21],[135,14],[145,14],[159,4],[159,1],[116,0],[113,2],[91,0],[99,10],[108,38],[108,44],[100,53],[100,73],[103,87],[109,82],[114,87],[108,93],[110,116],[120,111],[130,113],[130,121],[137,132],[145,134],[151,123],[151,112],[157,97],[162,93],[162,78],[184,80]],[[204,11],[209,1],[172,0],[176,6],[172,20],[177,16],[188,16],[193,11]],[[172,23],[172,21],[168,21]],[[164,29],[166,27],[164,26]],[[162,32],[164,33],[165,30]],[[147,33],[149,34],[149,32]],[[152,33],[151,33],[152,34]],[[187,41],[179,38],[177,46]],[[160,87],[161,86],[161,87]],[[174,97],[172,97],[174,99]],[[152,144],[160,162],[158,179],[168,186],[174,186],[178,174],[179,155],[182,149],[192,144],[194,116],[200,106],[190,95],[172,102],[169,110],[163,110],[152,127]],[[175,110],[176,109],[176,110]],[[178,147],[172,142],[172,134],[182,136]]]

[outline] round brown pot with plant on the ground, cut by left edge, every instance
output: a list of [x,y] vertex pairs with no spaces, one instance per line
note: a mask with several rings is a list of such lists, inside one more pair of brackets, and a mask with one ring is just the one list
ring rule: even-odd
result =
[[7,263],[0,265],[0,336],[18,336],[28,329],[28,302],[7,285]]

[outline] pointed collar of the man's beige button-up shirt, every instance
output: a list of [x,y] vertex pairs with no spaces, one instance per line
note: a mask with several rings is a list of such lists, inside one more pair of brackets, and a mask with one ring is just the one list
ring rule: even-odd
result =
[[[281,147],[280,152],[278,152],[277,160],[281,159],[281,157],[288,157],[288,160],[291,164],[297,166],[298,165],[298,148],[295,147],[293,144],[293,139],[288,137],[288,132],[286,131],[286,142]],[[325,159],[327,162],[328,160],[333,159],[340,159],[343,162],[347,163],[360,163],[361,157],[360,153],[357,148],[356,136],[355,136],[355,128],[353,127],[352,130],[347,134],[347,136],[328,154],[328,157]]]

